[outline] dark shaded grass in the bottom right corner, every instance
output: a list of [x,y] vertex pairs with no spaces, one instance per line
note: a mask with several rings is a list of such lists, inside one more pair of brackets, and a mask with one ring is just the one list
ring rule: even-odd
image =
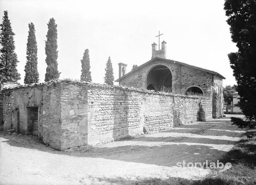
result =
[[[256,129],[249,130],[256,134]],[[188,180],[185,178],[170,177],[168,179],[148,178],[126,180],[123,178],[101,178],[99,181],[124,185],[255,185],[256,184],[256,137],[243,137],[232,150],[227,152],[222,163],[230,162],[232,167],[227,171],[215,171],[202,180]],[[217,163],[215,161],[215,163]]]

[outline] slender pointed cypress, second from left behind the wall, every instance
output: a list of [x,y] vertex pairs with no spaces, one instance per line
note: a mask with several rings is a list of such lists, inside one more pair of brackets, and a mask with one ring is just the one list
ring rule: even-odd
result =
[[39,74],[37,71],[37,43],[34,24],[28,24],[27,63],[25,65],[25,84],[37,83]]

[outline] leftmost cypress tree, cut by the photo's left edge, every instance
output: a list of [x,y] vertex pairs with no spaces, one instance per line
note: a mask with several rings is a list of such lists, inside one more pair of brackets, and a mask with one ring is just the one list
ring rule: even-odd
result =
[[14,40],[15,35],[12,31],[11,22],[8,18],[8,12],[4,11],[3,23],[0,25],[0,44],[2,45],[0,49],[0,78],[10,77],[15,80],[20,79],[20,73],[17,70],[17,55],[14,52]]

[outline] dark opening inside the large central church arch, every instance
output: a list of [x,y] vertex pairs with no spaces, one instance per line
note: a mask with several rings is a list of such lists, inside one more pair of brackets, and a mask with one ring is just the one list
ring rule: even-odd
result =
[[147,74],[147,90],[171,92],[172,74],[170,69],[164,65],[152,68]]

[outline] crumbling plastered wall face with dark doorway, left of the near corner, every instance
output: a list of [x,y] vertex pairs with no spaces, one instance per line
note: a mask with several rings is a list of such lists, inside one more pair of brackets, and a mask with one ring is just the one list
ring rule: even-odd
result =
[[38,138],[60,149],[60,84],[3,90],[3,129],[28,133],[27,107],[38,107]]

